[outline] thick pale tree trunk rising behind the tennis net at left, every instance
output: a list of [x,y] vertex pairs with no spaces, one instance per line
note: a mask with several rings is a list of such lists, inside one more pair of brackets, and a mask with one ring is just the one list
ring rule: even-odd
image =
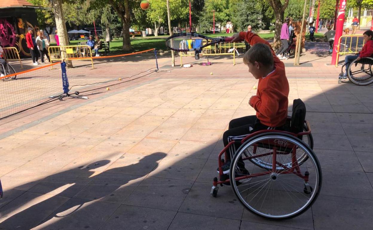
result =
[[[66,29],[66,21],[63,17],[62,11],[62,0],[52,0],[52,6],[54,10],[54,19],[56,20],[57,34],[60,42],[60,46],[69,45],[68,31]],[[66,49],[61,48],[61,58],[64,60],[67,58]],[[72,62],[66,60],[66,66],[72,68]]]

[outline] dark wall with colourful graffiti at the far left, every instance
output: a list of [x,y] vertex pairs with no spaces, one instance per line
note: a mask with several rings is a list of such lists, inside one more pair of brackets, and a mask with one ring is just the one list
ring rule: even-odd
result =
[[[34,31],[38,31],[39,28],[35,25],[37,21],[36,13],[34,9],[28,9],[31,11],[28,14],[19,10],[15,11],[14,9],[9,9],[9,12],[6,13],[0,12],[0,15],[9,15],[0,17],[1,46],[16,47],[20,56],[29,57],[31,54],[26,44],[26,32],[28,27],[34,28]],[[2,11],[4,10],[7,9],[2,9]]]

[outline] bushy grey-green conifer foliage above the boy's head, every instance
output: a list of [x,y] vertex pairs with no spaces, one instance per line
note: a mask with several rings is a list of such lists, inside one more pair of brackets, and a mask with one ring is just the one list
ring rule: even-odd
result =
[[252,0],[230,0],[230,18],[235,31],[245,31],[251,25],[255,31],[263,28],[262,5]]

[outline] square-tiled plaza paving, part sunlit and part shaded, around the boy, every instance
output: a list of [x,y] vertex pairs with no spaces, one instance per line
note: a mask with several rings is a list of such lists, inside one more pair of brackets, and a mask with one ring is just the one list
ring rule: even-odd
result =
[[210,195],[222,134],[255,114],[257,82],[240,58],[187,69],[162,56],[158,73],[1,121],[0,229],[371,229],[372,86],[337,84],[325,44],[309,46],[309,67],[285,61],[289,111],[305,102],[323,171],[304,214],[268,221],[229,186]]

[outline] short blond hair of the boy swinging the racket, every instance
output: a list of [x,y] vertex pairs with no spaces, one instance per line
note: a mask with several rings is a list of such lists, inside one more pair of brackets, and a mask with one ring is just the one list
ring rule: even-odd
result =
[[259,62],[264,66],[272,66],[273,65],[273,54],[272,50],[269,48],[268,45],[263,43],[257,43],[253,45],[245,54],[244,54],[244,63],[247,65],[248,63],[254,64],[255,62]]

